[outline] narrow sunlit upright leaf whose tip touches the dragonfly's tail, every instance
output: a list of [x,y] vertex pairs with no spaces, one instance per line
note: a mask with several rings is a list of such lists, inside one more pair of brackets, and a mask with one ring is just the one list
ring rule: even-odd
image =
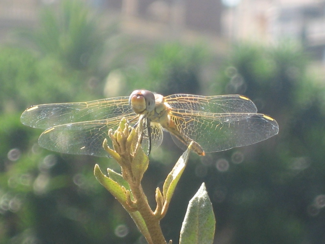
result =
[[162,209],[162,215],[164,215],[167,211],[168,205],[173,197],[176,185],[185,169],[185,166],[188,161],[189,153],[191,152],[193,142],[188,145],[187,150],[180,156],[177,160],[174,168],[167,175],[166,180],[162,186],[162,195],[164,197],[164,206]]

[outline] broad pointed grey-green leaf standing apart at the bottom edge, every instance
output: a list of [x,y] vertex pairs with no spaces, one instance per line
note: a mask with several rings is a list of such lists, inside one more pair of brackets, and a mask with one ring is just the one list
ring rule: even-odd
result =
[[212,244],[215,218],[212,203],[202,183],[200,189],[189,201],[182,224],[179,244]]

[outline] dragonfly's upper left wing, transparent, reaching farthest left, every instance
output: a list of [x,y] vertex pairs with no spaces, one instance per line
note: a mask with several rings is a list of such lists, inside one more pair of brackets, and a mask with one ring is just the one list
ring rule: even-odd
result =
[[26,109],[20,120],[30,127],[48,129],[63,124],[110,119],[128,114],[134,114],[129,106],[129,98],[114,97],[90,102],[36,105]]

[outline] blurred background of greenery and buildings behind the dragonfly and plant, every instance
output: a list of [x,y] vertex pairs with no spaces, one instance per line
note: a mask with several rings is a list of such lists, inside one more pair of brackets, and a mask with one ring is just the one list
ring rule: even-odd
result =
[[[325,243],[325,1],[1,0],[0,243],[146,243],[93,167],[112,159],[58,154],[23,126],[25,108],[128,96],[243,94],[274,117],[266,141],[190,156],[169,212],[178,243],[202,182],[214,243]],[[168,134],[143,179],[154,192],[182,151]]]

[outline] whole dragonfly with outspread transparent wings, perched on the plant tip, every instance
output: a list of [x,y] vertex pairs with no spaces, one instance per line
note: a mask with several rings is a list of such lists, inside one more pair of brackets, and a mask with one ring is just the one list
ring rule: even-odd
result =
[[[242,95],[162,96],[148,90],[90,102],[35,105],[20,119],[24,125],[45,130],[38,139],[43,148],[109,157],[103,141],[123,117],[133,127],[142,123],[141,145],[148,155],[162,143],[163,130],[183,150],[193,141],[192,150],[201,156],[251,145],[279,132],[276,120],[257,113],[255,104]],[[108,145],[112,148],[110,140]]]

